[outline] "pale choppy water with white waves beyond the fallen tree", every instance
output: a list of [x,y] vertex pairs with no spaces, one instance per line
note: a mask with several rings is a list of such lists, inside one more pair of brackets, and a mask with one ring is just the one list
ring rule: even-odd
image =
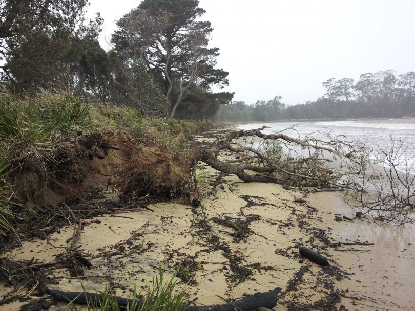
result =
[[[415,173],[415,118],[407,119],[380,119],[380,120],[344,120],[344,121],[320,121],[320,122],[271,122],[271,123],[245,123],[240,124],[240,129],[260,128],[262,125],[270,126],[262,130],[264,134],[273,134],[291,126],[284,134],[303,138],[305,135],[323,138],[320,132],[329,132],[331,137],[342,136],[346,141],[363,141],[368,147],[377,150],[390,146],[390,140],[401,140],[407,148],[408,157],[412,157],[405,163],[398,165],[398,169]],[[401,158],[403,160],[403,158]]]

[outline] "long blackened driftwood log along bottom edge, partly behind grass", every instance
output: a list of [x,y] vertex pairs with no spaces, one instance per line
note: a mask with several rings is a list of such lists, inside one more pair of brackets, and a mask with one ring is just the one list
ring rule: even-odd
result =
[[[84,292],[63,292],[59,290],[47,290],[47,292],[58,301],[73,301],[75,304],[87,304],[88,301],[95,299],[102,301],[102,295],[98,293],[84,293]],[[273,308],[277,305],[277,295],[281,292],[281,287],[276,287],[274,290],[256,293],[252,296],[244,297],[233,302],[211,305],[211,306],[189,306],[183,304],[182,310],[186,311],[251,311],[257,308]],[[125,307],[130,300],[127,298],[117,297],[119,306]],[[138,309],[141,304],[138,303]]]

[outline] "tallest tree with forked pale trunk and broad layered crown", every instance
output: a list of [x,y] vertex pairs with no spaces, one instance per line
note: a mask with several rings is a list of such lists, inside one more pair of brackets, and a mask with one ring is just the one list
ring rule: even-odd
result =
[[146,61],[171,101],[169,118],[193,85],[224,87],[228,73],[215,69],[218,48],[208,48],[212,32],[197,0],[144,0],[117,21],[111,42],[126,62]]

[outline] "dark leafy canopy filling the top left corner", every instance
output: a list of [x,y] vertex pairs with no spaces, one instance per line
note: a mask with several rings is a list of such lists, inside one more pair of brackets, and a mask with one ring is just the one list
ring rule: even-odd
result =
[[[102,19],[86,23],[87,0],[0,2],[2,78],[14,87],[73,84],[80,55],[90,49]],[[82,87],[82,86],[80,86]]]

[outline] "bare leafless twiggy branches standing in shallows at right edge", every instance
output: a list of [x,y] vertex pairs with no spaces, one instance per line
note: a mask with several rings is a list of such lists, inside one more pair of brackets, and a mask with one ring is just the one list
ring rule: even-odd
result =
[[359,174],[361,188],[349,191],[346,202],[377,223],[395,224],[415,221],[415,154],[409,154],[402,141],[390,139],[374,153],[376,167]]

